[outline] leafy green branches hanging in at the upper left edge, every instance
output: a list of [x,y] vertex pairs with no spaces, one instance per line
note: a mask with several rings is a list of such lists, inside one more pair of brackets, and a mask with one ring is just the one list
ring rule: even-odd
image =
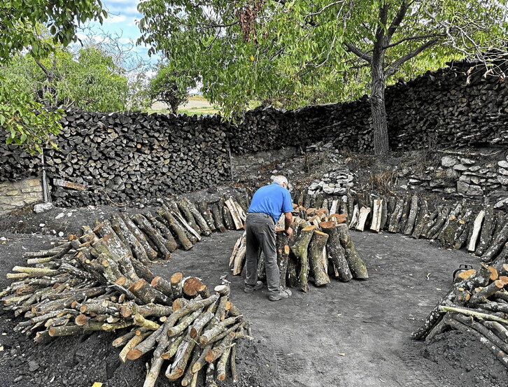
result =
[[[0,3],[0,64],[27,50],[43,58],[54,50],[75,42],[76,28],[87,20],[106,17],[100,0],[5,0]],[[42,26],[42,27],[41,27]],[[42,32],[50,31],[51,39]],[[7,143],[22,145],[30,152],[41,152],[61,126],[62,111],[46,108],[13,80],[0,74],[0,125]]]

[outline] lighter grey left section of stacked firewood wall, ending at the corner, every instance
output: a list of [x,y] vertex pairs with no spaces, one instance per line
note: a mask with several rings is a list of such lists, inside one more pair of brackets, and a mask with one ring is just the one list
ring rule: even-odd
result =
[[[44,151],[52,199],[59,206],[150,199],[230,178],[228,124],[218,116],[71,110],[61,121],[59,150]],[[0,165],[0,181],[41,176],[40,157],[4,141]]]

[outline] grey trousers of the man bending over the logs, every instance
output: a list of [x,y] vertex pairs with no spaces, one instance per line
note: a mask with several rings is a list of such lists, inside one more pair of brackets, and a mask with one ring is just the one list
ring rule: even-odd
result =
[[246,221],[246,286],[257,282],[257,259],[260,251],[264,254],[264,268],[267,272],[269,295],[280,291],[281,279],[275,250],[275,223],[264,213],[248,213]]

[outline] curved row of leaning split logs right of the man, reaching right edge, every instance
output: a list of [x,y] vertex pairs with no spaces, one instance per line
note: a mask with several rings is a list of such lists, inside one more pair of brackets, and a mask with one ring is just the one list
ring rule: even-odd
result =
[[[416,239],[435,239],[446,248],[465,248],[481,262],[492,262],[508,246],[508,217],[491,205],[460,202],[428,202],[406,195],[381,197],[349,190],[342,197],[294,193],[294,202],[308,211],[323,207],[328,216],[344,216],[351,230],[400,233]],[[316,220],[313,220],[316,223]]]

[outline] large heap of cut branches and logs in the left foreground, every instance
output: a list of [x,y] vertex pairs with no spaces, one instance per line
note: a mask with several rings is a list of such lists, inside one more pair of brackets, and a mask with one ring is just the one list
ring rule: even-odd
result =
[[[212,294],[197,277],[154,276],[148,253],[167,258],[168,239],[148,224],[150,216],[132,218],[83,227],[81,237],[25,254],[27,266],[13,267],[7,277],[15,281],[0,292],[3,308],[23,318],[15,330],[35,334],[36,342],[122,330],[113,346],[121,348],[123,362],[153,351],[144,387],[154,386],[162,371],[182,386],[196,386],[202,370],[223,381],[230,367],[236,379],[233,348],[249,336],[229,286],[216,286]],[[141,230],[129,229],[136,225],[144,239]]]

